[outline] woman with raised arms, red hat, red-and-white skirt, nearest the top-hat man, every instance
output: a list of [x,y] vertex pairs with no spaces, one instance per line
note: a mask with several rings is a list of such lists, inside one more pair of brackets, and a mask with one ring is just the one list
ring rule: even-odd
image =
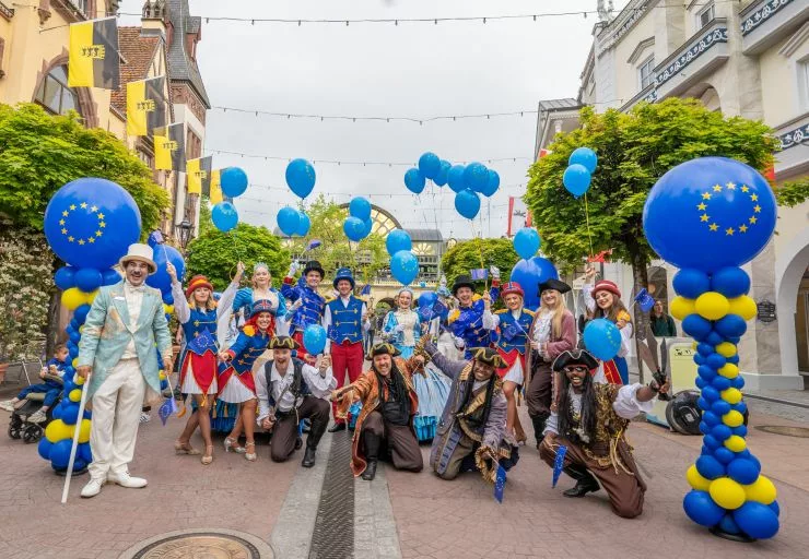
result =
[[197,404],[196,409],[186,421],[186,427],[174,443],[177,454],[197,455],[199,451],[191,447],[190,439],[199,427],[204,441],[206,452],[201,462],[208,465],[213,461],[213,442],[211,440],[211,407],[215,405],[216,392],[216,353],[219,341],[216,330],[222,320],[228,320],[227,313],[219,313],[219,305],[227,309],[233,301],[245,266],[242,262],[236,265],[236,276],[220,297],[219,302],[213,299],[213,286],[203,275],[196,275],[188,282],[183,293],[183,286],[177,280],[177,271],[169,262],[166,272],[172,278],[172,295],[174,296],[174,313],[183,329],[186,345],[179,359],[180,393],[191,395]]

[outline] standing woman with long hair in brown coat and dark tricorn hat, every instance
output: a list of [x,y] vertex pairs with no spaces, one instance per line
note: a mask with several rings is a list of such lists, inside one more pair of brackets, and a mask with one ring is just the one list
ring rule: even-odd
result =
[[571,286],[559,280],[539,284],[539,309],[528,330],[525,397],[537,445],[542,442],[544,425],[551,415],[551,364],[561,353],[576,347],[576,319],[563,297],[570,290]]

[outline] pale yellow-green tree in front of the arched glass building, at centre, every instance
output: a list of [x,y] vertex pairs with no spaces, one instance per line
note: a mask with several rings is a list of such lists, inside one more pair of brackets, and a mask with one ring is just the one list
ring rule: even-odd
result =
[[327,276],[333,275],[338,267],[351,267],[359,281],[368,282],[376,273],[389,263],[385,239],[372,233],[360,242],[351,242],[342,224],[349,212],[320,194],[305,210],[312,221],[312,228],[306,237],[294,237],[290,249],[293,254],[303,254],[313,239],[321,245],[306,252],[306,260],[317,260],[324,266]]

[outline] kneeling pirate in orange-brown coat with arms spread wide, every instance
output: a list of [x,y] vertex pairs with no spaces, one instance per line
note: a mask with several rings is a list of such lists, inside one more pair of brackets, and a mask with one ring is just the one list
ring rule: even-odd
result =
[[413,430],[419,396],[412,382],[412,374],[423,367],[424,357],[415,355],[406,361],[399,355],[391,344],[376,344],[371,349],[371,370],[331,396],[332,401],[340,401],[338,416],[342,418],[355,400],[362,402],[351,471],[366,480],[374,479],[377,462],[388,453],[397,469],[421,472],[424,467]]

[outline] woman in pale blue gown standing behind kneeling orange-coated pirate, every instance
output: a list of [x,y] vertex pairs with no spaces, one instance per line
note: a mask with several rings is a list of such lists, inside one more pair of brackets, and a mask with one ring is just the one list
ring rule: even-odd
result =
[[[388,311],[385,316],[382,337],[391,343],[403,359],[409,359],[421,340],[422,322],[419,313],[412,309],[413,292],[409,287],[399,289],[395,300],[397,309]],[[434,320],[429,316],[426,319],[423,324],[425,331]],[[425,332],[424,335],[429,334]],[[435,436],[438,419],[449,397],[449,382],[435,368],[417,370],[412,381],[419,396],[419,409],[413,419],[415,436],[420,441],[430,440]]]

